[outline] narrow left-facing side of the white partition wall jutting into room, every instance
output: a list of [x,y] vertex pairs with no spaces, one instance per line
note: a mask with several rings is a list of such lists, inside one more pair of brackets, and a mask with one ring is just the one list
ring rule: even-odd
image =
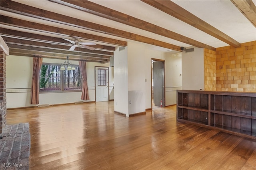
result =
[[128,115],[128,50],[114,51],[114,110]]

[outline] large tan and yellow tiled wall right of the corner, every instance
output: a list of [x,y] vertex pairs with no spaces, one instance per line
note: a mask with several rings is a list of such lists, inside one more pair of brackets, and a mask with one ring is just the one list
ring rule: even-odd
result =
[[216,48],[216,90],[256,92],[256,41]]

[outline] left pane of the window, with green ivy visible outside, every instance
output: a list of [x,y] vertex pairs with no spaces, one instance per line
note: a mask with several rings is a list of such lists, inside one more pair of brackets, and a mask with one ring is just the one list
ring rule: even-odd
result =
[[40,91],[60,91],[60,66],[43,64],[39,84]]

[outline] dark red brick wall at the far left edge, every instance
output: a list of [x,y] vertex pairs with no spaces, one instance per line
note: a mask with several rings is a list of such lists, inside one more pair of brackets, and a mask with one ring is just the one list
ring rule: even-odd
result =
[[6,54],[0,51],[0,134],[6,126]]

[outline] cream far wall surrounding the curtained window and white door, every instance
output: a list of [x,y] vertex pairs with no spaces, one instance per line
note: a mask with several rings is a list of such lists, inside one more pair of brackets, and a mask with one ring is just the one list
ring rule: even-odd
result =
[[[44,63],[63,63],[65,60],[43,58]],[[78,61],[71,61],[78,64]],[[7,108],[36,106],[30,104],[33,58],[24,56],[6,57],[6,104]],[[95,101],[94,66],[109,66],[109,63],[100,64],[87,62],[87,81],[89,98]],[[114,80],[110,74],[111,81]],[[81,92],[40,93],[39,104],[64,104],[81,101]]]

